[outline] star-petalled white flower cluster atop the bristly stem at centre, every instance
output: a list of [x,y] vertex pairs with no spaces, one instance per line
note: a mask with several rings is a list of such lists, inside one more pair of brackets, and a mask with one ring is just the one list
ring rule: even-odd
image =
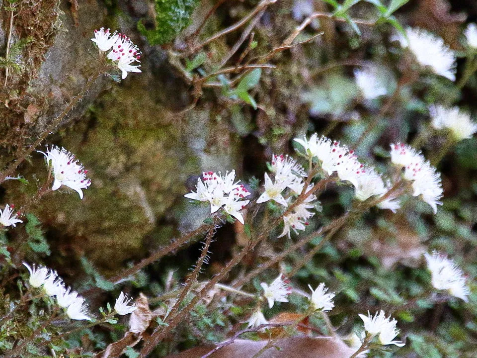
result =
[[215,172],[202,173],[202,179],[197,179],[197,191],[185,194],[186,198],[210,203],[210,213],[223,208],[229,215],[243,224],[243,216],[239,212],[250,200],[243,200],[250,192],[243,184],[235,181],[235,171],[227,172],[225,176]]

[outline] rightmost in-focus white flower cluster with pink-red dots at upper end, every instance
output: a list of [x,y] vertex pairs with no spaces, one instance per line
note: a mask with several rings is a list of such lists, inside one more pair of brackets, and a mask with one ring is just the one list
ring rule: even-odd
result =
[[398,168],[403,169],[403,177],[412,181],[413,196],[420,196],[428,203],[434,214],[437,205],[442,205],[439,199],[442,197],[441,176],[436,168],[426,161],[424,156],[407,144],[391,144],[391,161]]

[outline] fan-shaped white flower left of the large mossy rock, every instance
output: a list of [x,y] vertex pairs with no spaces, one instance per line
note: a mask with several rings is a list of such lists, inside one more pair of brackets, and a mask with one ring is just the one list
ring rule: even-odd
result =
[[47,152],[39,153],[45,156],[46,164],[53,170],[52,190],[59,189],[61,185],[68,186],[73,190],[76,190],[79,194],[79,198],[83,198],[83,192],[81,189],[87,189],[91,184],[91,180],[86,178],[88,171],[84,170],[84,167],[78,160],[75,160],[75,156],[68,152],[65,148],[59,148],[52,146],[51,149],[47,147]]

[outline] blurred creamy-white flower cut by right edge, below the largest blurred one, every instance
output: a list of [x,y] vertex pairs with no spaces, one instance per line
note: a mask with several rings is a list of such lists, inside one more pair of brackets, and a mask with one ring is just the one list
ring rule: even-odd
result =
[[431,105],[429,112],[432,127],[438,130],[449,130],[458,141],[472,138],[472,135],[477,132],[477,123],[471,119],[471,115],[462,112],[457,106],[446,108],[442,105]]

